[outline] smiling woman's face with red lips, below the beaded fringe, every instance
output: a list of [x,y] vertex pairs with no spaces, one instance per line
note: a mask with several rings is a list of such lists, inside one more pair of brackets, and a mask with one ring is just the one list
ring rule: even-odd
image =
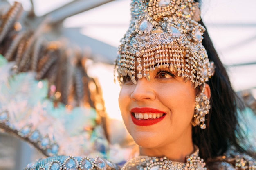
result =
[[144,148],[191,142],[194,84],[175,77],[169,68],[156,68],[150,77],[137,79],[136,85],[124,78],[119,107],[128,132]]

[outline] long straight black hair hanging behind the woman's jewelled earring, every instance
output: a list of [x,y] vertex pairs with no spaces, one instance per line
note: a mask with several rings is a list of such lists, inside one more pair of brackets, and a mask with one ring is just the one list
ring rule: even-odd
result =
[[[199,23],[205,27],[202,20]],[[211,109],[206,117],[207,129],[193,127],[193,142],[200,148],[200,157],[206,161],[222,155],[230,146],[248,153],[241,146],[245,142],[245,133],[238,123],[238,111],[242,111],[244,106],[231,86],[227,71],[218,57],[207,29],[202,44],[216,68],[215,74],[207,82],[211,89]]]

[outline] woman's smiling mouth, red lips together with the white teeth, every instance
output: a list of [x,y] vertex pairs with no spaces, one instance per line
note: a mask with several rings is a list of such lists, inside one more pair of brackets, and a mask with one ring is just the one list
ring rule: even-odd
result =
[[133,108],[131,109],[132,122],[138,126],[151,126],[164,119],[166,113],[153,108]]

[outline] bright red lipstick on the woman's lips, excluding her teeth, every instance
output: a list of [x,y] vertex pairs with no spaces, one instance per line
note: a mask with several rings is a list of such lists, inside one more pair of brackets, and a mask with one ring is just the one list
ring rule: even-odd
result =
[[157,118],[157,119],[137,119],[135,118],[134,113],[165,113],[165,112],[157,109],[153,109],[153,108],[148,108],[148,107],[142,107],[142,108],[135,107],[131,109],[131,117],[132,117],[132,122],[137,126],[151,126],[153,124],[157,124],[158,122],[163,120],[166,115],[164,114],[161,118]]

